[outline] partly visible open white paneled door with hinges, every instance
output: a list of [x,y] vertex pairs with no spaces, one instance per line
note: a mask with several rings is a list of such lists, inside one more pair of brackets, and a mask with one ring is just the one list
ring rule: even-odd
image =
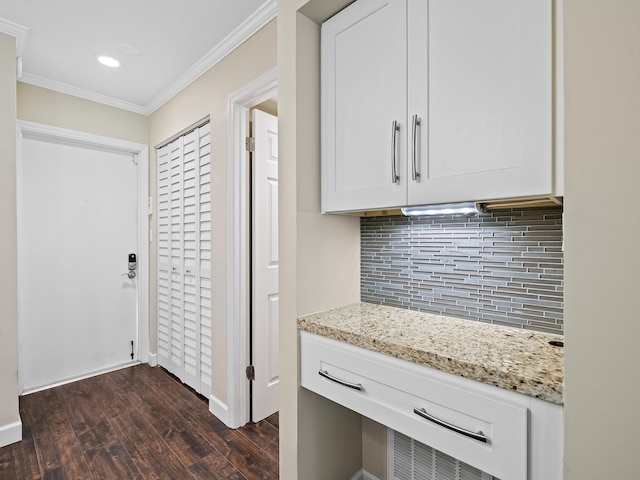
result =
[[251,420],[278,411],[278,118],[253,110]]

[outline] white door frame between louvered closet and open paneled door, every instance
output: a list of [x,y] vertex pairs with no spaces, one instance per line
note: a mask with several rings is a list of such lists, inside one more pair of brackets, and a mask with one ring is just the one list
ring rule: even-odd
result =
[[227,152],[227,402],[211,396],[209,409],[230,428],[249,422],[249,365],[251,322],[251,176],[249,110],[277,96],[277,70],[273,68],[229,95]]

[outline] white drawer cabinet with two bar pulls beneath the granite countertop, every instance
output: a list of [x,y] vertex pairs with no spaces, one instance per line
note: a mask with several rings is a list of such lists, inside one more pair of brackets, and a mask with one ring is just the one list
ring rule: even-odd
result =
[[508,480],[562,478],[562,407],[300,332],[301,385]]

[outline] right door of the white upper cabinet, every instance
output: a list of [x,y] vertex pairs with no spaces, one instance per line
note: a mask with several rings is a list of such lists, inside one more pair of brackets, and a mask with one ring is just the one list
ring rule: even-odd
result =
[[551,15],[550,0],[409,0],[408,204],[552,193]]

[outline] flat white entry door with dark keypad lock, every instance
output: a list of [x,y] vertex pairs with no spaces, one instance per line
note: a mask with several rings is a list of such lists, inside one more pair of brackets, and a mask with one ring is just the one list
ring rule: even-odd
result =
[[137,175],[133,154],[25,134],[24,392],[137,360],[138,279],[126,275],[138,245]]

